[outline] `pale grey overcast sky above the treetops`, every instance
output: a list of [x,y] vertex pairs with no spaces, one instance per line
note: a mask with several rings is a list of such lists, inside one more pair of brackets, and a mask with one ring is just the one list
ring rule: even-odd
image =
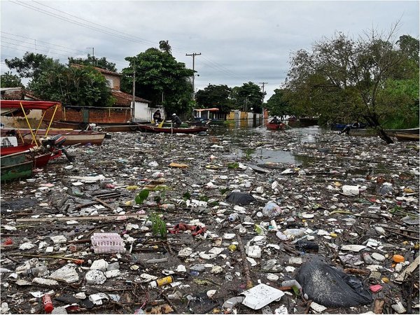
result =
[[[0,1],[4,59],[41,53],[106,57],[118,71],[167,40],[172,55],[193,69],[195,87],[265,82],[267,100],[284,82],[290,54],[342,31],[368,29],[419,38],[419,1]],[[92,50],[94,48],[94,50]]]

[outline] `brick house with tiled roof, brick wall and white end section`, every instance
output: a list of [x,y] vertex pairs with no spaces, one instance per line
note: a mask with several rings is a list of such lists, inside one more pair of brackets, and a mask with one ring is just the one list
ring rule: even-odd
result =
[[[83,67],[80,64],[71,64],[74,67]],[[105,77],[111,94],[116,99],[116,104],[112,107],[92,107],[92,106],[63,106],[55,113],[55,120],[65,120],[80,123],[96,124],[118,124],[127,122],[146,122],[151,121],[156,109],[149,107],[150,101],[141,97],[134,97],[132,94],[121,92],[120,78],[122,74],[94,67]],[[49,120],[52,113],[47,113],[44,120]]]

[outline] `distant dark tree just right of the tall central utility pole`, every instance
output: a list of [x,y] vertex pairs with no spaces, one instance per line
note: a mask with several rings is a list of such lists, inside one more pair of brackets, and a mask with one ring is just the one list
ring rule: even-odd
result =
[[204,90],[198,90],[195,93],[197,105],[201,108],[216,107],[223,113],[230,112],[232,100],[230,94],[232,89],[228,85],[211,85],[204,87]]

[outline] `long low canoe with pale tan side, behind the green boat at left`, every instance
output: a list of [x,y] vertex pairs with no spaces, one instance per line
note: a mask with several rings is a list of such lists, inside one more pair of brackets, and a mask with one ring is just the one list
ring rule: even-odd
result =
[[[4,128],[1,132],[10,132],[11,129]],[[45,129],[38,129],[32,130],[34,134],[36,133],[36,139],[44,138],[46,130]],[[25,141],[25,144],[31,144],[32,135],[29,129],[19,129],[16,130],[16,133],[22,134],[22,138]],[[64,141],[64,146],[72,146],[73,144],[92,144],[92,145],[101,145],[106,137],[106,132],[96,132],[92,130],[48,130],[48,137],[56,136],[57,134],[62,134],[66,137],[66,141]]]

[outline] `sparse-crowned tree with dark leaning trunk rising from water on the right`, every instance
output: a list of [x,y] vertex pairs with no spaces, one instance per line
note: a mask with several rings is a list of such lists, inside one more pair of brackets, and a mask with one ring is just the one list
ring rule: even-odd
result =
[[366,32],[357,41],[337,33],[315,43],[312,52],[298,51],[292,58],[286,83],[294,94],[290,99],[299,99],[298,94],[305,91],[307,111],[321,115],[331,111],[331,104],[338,105],[336,111],[351,108],[356,116],[375,127],[382,139],[392,143],[381,127],[386,104],[379,94],[393,71],[407,59],[393,44],[395,27],[388,34]]

